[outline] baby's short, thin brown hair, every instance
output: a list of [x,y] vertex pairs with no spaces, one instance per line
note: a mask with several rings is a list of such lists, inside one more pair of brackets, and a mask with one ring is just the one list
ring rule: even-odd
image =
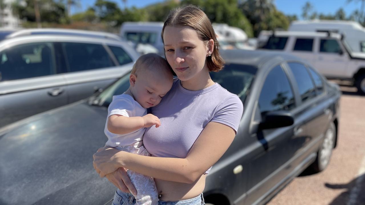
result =
[[138,75],[138,72],[145,69],[161,68],[172,74],[172,69],[164,58],[157,54],[145,54],[139,56],[133,65],[131,74]]

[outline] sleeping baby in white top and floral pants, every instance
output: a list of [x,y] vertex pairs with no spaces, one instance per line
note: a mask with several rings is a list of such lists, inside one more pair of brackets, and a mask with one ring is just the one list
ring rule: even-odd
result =
[[[147,114],[147,108],[160,103],[171,89],[173,75],[168,62],[157,54],[140,56],[129,76],[130,87],[124,94],[113,96],[108,108],[104,133],[105,146],[134,154],[150,156],[143,146],[146,127],[161,125],[160,119]],[[137,205],[157,205],[158,193],[152,177],[127,170],[137,189]]]

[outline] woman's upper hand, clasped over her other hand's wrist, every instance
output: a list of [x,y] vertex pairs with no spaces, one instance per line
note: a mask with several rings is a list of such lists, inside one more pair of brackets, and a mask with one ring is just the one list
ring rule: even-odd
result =
[[119,153],[119,150],[105,146],[99,148],[93,155],[93,166],[100,177],[104,177],[120,167],[114,161],[117,153]]

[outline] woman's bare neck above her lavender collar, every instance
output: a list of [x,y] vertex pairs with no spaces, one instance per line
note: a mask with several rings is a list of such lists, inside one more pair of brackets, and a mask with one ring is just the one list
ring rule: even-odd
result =
[[180,81],[181,86],[187,90],[203,90],[204,88],[214,85],[213,80],[210,78],[208,69],[203,69],[200,74],[195,75],[193,78]]

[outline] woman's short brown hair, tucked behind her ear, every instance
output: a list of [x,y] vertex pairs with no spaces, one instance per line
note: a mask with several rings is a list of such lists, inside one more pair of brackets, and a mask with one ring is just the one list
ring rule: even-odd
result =
[[207,43],[210,39],[213,39],[214,49],[211,56],[207,57],[207,66],[209,71],[218,72],[222,70],[224,61],[222,56],[219,54],[219,43],[217,41],[212,23],[204,11],[194,5],[188,5],[171,10],[165,20],[164,27],[162,27],[162,42],[164,42],[164,30],[167,25],[172,27],[185,25],[190,26],[198,33],[199,38],[201,38],[204,43]]

